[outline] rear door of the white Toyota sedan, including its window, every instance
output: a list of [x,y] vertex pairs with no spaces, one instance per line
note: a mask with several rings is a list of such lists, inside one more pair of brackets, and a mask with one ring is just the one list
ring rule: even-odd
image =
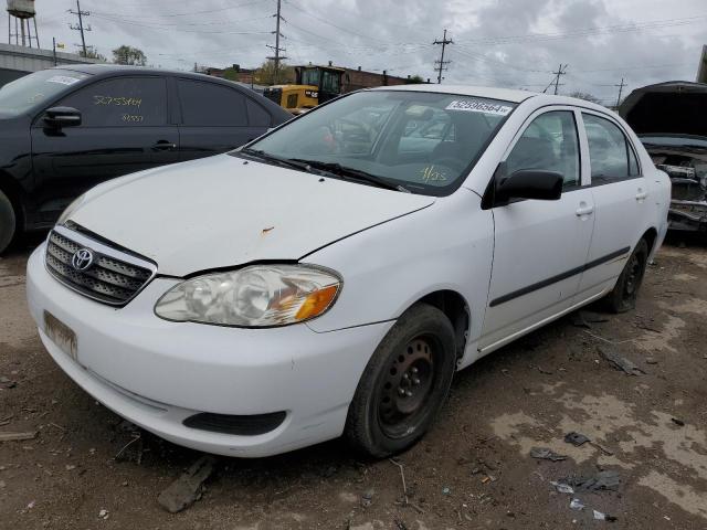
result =
[[579,295],[588,298],[611,287],[621,274],[643,227],[650,224],[652,206],[635,148],[621,125],[590,110],[582,110],[581,118],[595,203],[594,236]]

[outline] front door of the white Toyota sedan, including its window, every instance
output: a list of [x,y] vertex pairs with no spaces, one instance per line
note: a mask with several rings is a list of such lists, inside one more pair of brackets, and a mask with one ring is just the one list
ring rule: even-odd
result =
[[576,113],[540,110],[528,124],[506,158],[506,173],[557,171],[564,177],[562,195],[493,209],[494,263],[482,350],[571,306],[592,237],[594,202],[591,189],[582,186]]

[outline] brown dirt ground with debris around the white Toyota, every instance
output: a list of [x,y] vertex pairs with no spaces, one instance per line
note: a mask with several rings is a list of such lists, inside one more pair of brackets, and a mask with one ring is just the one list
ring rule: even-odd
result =
[[[172,515],[157,497],[200,455],[133,431],[50,359],[24,299],[40,241],[0,259],[0,377],[17,383],[0,379],[0,433],[39,432],[0,442],[0,528],[707,529],[707,242],[672,237],[636,310],[590,327],[563,318],[460,372],[435,427],[398,458],[408,504],[393,462],[334,441],[220,458],[202,499]],[[612,368],[602,344],[645,374]],[[599,445],[566,443],[572,431]],[[600,469],[620,473],[616,491],[551,485]]]

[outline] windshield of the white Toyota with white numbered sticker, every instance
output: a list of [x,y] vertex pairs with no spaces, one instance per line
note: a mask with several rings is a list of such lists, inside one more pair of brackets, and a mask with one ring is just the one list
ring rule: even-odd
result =
[[241,152],[309,162],[350,180],[369,177],[369,184],[374,179],[401,191],[445,195],[460,186],[514,107],[475,96],[360,92],[302,116]]

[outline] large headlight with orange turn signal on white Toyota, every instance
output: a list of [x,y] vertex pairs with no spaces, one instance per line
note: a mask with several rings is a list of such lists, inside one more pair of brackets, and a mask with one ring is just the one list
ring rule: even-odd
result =
[[155,314],[178,322],[271,327],[323,315],[341,290],[333,271],[312,265],[254,265],[207,274],[168,290]]

